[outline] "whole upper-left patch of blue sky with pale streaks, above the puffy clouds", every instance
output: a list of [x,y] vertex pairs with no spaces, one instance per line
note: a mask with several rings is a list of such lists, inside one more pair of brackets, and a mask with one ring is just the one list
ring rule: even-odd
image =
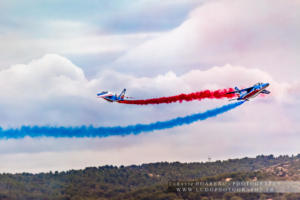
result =
[[[90,76],[99,71],[99,65],[107,64],[129,48],[180,25],[200,3],[195,0],[4,1],[0,32],[7,43],[0,64],[3,68],[29,62],[46,53],[59,53],[82,66]],[[120,42],[110,44],[108,41],[101,48],[101,36],[111,36]],[[98,40],[91,44],[89,38]],[[60,40],[79,42],[75,41],[66,49],[68,44],[57,44]],[[85,48],[97,45],[98,49],[92,47],[95,50],[80,51],[82,45]],[[108,49],[110,45],[118,47]],[[33,48],[30,52],[28,46]],[[78,51],[70,50],[74,48],[80,56]],[[16,52],[18,56],[14,55]]]

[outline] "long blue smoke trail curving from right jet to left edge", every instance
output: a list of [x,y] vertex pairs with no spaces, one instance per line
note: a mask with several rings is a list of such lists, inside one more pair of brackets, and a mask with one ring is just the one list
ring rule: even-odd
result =
[[197,113],[185,117],[178,117],[168,121],[159,121],[151,124],[136,124],[130,126],[115,127],[49,127],[49,126],[22,126],[17,129],[2,129],[0,127],[0,138],[24,138],[29,137],[108,137],[113,135],[125,136],[129,134],[139,134],[141,132],[150,132],[191,124],[198,120],[205,120],[227,112],[243,104],[244,101],[231,103],[219,108],[208,110],[204,113]]

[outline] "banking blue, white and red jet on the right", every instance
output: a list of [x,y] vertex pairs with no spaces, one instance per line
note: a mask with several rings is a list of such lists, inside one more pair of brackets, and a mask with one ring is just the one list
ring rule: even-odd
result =
[[232,100],[243,100],[243,101],[249,101],[250,98],[254,98],[260,93],[262,94],[270,94],[271,92],[266,90],[267,87],[269,87],[269,83],[256,83],[254,86],[245,88],[245,89],[239,89],[238,87],[235,87],[235,91],[228,92],[227,94],[233,94],[237,93],[238,98],[236,99],[230,99]]

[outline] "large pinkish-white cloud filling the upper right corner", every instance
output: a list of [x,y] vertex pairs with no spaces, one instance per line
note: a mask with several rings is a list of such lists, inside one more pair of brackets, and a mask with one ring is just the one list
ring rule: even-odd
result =
[[112,66],[156,74],[229,63],[264,69],[280,80],[297,80],[299,7],[293,0],[207,2],[179,27],[146,41]]

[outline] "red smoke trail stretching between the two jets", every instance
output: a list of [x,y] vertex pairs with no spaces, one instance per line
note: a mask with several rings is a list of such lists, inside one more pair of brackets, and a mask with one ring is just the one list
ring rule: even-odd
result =
[[221,98],[233,98],[235,94],[226,94],[228,92],[233,92],[233,88],[223,89],[223,90],[204,90],[200,92],[194,92],[190,94],[180,94],[176,96],[170,97],[160,97],[153,99],[141,99],[141,100],[123,100],[119,101],[119,103],[124,104],[136,104],[136,105],[147,105],[147,104],[161,104],[161,103],[175,103],[182,101],[194,101],[194,100],[202,100],[202,99],[221,99]]

